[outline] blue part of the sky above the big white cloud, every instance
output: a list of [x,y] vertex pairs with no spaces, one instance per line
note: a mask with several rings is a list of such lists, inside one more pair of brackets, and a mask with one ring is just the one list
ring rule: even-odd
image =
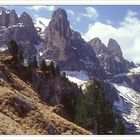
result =
[[[40,7],[38,9],[32,7]],[[42,8],[41,8],[42,7]],[[75,30],[79,30],[81,33],[85,33],[89,24],[93,24],[96,21],[107,23],[111,21],[112,25],[118,27],[120,22],[124,19],[128,10],[136,11],[140,13],[140,6],[47,6],[52,8],[43,8],[44,6],[6,6],[7,9],[15,9],[18,14],[26,11],[32,18],[36,19],[36,16],[51,19],[52,12],[58,8],[64,8],[67,11],[69,21]],[[98,17],[84,17],[78,20],[77,18],[86,13],[86,8],[92,7],[97,13]],[[69,12],[72,11],[72,12]],[[140,18],[140,14],[137,15]],[[77,19],[77,20],[76,20]]]

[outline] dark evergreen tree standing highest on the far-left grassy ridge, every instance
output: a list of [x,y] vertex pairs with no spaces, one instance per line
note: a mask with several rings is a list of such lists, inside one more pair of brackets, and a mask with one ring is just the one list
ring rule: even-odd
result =
[[18,55],[18,45],[16,43],[16,41],[11,40],[9,45],[8,45],[8,50],[11,53],[14,61],[17,61],[17,55]]

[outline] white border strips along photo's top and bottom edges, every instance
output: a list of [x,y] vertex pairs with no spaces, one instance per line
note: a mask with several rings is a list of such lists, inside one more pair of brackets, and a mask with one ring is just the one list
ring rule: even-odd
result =
[[[0,0],[0,6],[18,5],[140,5],[140,0]],[[0,135],[0,140],[140,140],[140,135]]]

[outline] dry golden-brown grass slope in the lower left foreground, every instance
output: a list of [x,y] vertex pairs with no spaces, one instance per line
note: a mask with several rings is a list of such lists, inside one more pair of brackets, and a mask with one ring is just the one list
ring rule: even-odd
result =
[[[52,107],[39,99],[30,84],[19,79],[9,69],[5,71],[9,83],[0,78],[0,134],[91,134],[55,114]],[[13,98],[19,97],[35,105],[35,109],[24,117],[12,106]]]

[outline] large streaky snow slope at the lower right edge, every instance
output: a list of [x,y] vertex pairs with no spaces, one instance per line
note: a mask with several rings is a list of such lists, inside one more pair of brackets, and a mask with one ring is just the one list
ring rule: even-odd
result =
[[111,85],[117,89],[119,97],[119,100],[113,103],[114,110],[119,112],[127,122],[134,124],[136,129],[133,130],[134,133],[140,132],[140,93],[130,88],[125,81],[121,84],[111,83]]

